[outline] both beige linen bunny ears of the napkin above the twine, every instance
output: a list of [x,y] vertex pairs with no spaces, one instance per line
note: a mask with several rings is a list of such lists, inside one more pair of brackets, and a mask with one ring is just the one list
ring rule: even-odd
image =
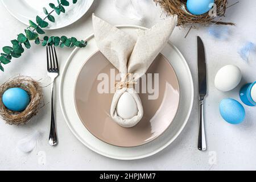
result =
[[[93,28],[100,51],[120,73],[133,73],[137,80],[162,51],[177,24],[177,15],[148,30],[139,30],[138,39],[93,14]],[[130,60],[128,60],[130,57]]]

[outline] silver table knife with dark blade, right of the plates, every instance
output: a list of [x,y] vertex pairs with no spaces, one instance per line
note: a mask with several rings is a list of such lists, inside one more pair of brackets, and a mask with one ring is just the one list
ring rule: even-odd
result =
[[197,66],[198,66],[198,82],[199,82],[199,137],[198,149],[207,150],[205,130],[204,130],[204,98],[207,96],[207,68],[205,64],[204,44],[199,36],[197,36]]

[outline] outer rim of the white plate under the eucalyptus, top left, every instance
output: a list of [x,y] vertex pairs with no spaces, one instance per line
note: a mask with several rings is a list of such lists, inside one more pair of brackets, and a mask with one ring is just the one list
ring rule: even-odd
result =
[[[3,6],[5,6],[5,9],[6,9],[14,18],[16,18],[17,20],[19,20],[19,22],[21,22],[21,23],[23,23],[23,24],[29,26],[28,20],[25,22],[25,21],[21,20],[20,18],[18,18],[18,16],[16,16],[15,14],[13,14],[13,12],[7,7],[5,1],[6,1],[6,0],[1,0]],[[75,19],[73,22],[70,22],[70,23],[68,23],[68,24],[65,24],[65,25],[59,26],[59,27],[52,27],[52,28],[51,28],[51,27],[48,27],[48,28],[46,27],[46,28],[42,28],[42,29],[43,29],[43,30],[57,30],[57,29],[60,29],[60,28],[64,28],[64,27],[70,26],[70,25],[73,24],[73,23],[76,23],[79,19],[82,18],[82,16],[84,16],[84,15],[89,11],[90,7],[92,7],[94,0],[89,0],[89,1],[91,1],[91,3],[89,4],[88,9],[87,9],[81,16],[79,16],[79,18]],[[42,8],[43,8],[43,7],[42,7]]]

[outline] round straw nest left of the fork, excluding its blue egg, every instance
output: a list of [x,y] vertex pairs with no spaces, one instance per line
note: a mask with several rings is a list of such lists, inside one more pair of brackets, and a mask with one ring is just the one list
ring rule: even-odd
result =
[[[26,90],[30,102],[23,111],[12,111],[3,104],[3,93],[10,88],[21,88]],[[22,125],[28,123],[32,117],[38,114],[43,106],[43,93],[38,81],[31,77],[18,76],[10,78],[0,86],[0,115],[9,125]]]

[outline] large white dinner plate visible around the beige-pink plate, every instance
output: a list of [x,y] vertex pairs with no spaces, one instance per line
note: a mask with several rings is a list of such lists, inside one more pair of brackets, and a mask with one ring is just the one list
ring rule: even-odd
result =
[[[137,30],[144,27],[139,26],[117,26],[121,30],[127,32],[134,38],[137,37]],[[180,86],[180,105],[175,119],[172,121],[171,127],[164,132],[159,138],[154,141],[137,147],[117,147],[111,144],[102,142],[94,137],[90,131],[82,124],[79,115],[76,111],[74,92],[76,77],[81,70],[82,65],[86,60],[98,51],[94,36],[91,35],[85,39],[88,41],[88,47],[76,48],[69,56],[64,69],[61,72],[60,80],[60,105],[65,121],[71,129],[72,133],[90,150],[97,152],[113,159],[134,160],[142,159],[154,155],[157,152],[166,148],[171,144],[184,129],[191,114],[193,105],[193,80],[188,64],[179,50],[170,42],[161,52],[170,61],[174,68]]]

